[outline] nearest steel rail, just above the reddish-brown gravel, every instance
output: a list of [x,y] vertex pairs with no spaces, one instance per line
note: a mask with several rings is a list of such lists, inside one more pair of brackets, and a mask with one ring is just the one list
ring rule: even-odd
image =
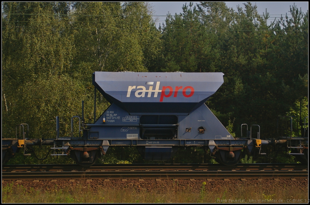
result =
[[272,179],[308,178],[308,171],[75,171],[75,172],[4,172],[2,180],[33,179]]

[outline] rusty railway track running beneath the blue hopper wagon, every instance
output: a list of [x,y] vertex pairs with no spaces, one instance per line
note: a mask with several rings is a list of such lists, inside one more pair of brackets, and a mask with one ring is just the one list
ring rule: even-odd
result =
[[4,165],[2,180],[49,179],[272,179],[308,178],[303,164],[95,164]]

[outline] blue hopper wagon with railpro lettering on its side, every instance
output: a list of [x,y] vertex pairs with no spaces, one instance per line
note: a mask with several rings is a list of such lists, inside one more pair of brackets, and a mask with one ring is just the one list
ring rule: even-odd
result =
[[[178,148],[203,147],[209,149],[219,163],[237,164],[243,153],[271,141],[262,142],[259,135],[233,138],[205,105],[224,82],[223,75],[95,72],[95,93],[97,89],[111,105],[99,118],[94,116],[93,124],[85,122],[82,106],[82,116],[73,116],[71,120],[71,137],[59,136],[57,117],[56,139],[27,140],[23,136],[18,141],[2,140],[2,161],[6,160],[3,154],[8,159],[17,145],[46,144],[61,151],[54,155],[69,155],[82,166],[94,164],[109,146],[136,146],[146,160],[168,160]],[[80,136],[73,136],[74,118],[79,121],[79,128],[75,129],[80,130]],[[21,124],[20,128],[24,126],[26,124]],[[277,143],[286,143],[282,141]]]

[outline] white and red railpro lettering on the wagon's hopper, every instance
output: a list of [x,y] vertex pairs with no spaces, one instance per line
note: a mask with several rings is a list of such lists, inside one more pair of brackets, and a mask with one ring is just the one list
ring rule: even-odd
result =
[[[156,87],[155,90],[153,90],[153,85],[154,82],[146,82],[146,85],[149,85],[148,90],[145,88],[145,86],[128,86],[128,91],[127,91],[127,97],[130,97],[131,91],[135,92],[136,97],[145,97],[145,93],[147,94],[147,97],[151,97],[152,93],[154,93],[153,97],[157,97],[158,93],[160,92],[160,100],[159,102],[162,102],[164,100],[164,97],[170,97],[173,94],[173,97],[178,96],[178,92],[182,91],[182,94],[184,97],[191,97],[194,95],[195,89],[192,86],[186,86],[183,88],[183,86],[175,86],[175,90],[171,86],[162,86],[162,89],[159,90],[160,82],[156,82]],[[139,89],[136,90],[135,89]],[[189,93],[189,94],[186,94]]]

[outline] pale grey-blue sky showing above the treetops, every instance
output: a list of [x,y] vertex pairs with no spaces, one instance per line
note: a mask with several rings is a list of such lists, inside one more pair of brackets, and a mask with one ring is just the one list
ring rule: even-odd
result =
[[[166,15],[168,12],[172,15],[175,13],[179,14],[182,12],[182,6],[186,3],[186,5],[189,4],[189,2],[150,2],[150,6],[153,6],[153,15],[159,15],[157,17],[157,23],[156,27],[158,28],[159,23],[164,23],[166,19]],[[199,2],[193,2],[194,5]],[[232,7],[235,11],[237,10],[237,5],[240,5],[244,8],[243,3],[246,2],[225,2],[228,7]],[[280,17],[281,14],[283,16],[289,14],[290,12],[290,5],[297,6],[298,9],[301,8],[301,11],[306,13],[309,10],[309,3],[308,2],[251,2],[252,4],[256,3],[257,11],[260,15],[263,14],[263,12],[267,12],[270,15],[270,22],[274,20],[272,18],[272,15],[275,15],[273,17]],[[269,23],[270,23],[269,22]]]

